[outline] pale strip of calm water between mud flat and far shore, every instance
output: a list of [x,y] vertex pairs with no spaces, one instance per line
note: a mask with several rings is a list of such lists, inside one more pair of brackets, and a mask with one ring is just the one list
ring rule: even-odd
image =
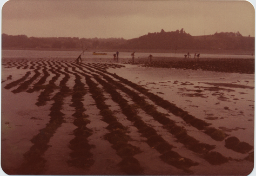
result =
[[[93,55],[93,52],[84,52],[81,58],[113,58],[115,52],[105,52],[107,55]],[[34,51],[34,50],[2,50],[2,58],[77,58],[81,52],[76,51]],[[145,53],[135,52],[135,58],[148,57],[151,54],[154,57],[177,57],[183,58],[186,53]],[[191,57],[194,54],[191,53]],[[120,52],[119,58],[131,58],[131,52]],[[254,58],[251,55],[235,54],[200,54],[200,58]]]

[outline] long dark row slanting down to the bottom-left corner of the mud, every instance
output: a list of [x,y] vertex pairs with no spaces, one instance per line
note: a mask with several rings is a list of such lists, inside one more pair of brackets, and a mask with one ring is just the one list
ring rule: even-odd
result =
[[66,83],[69,77],[64,77],[61,80],[60,85],[63,88],[57,92],[52,100],[54,103],[50,108],[51,112],[49,114],[50,121],[46,124],[44,129],[40,130],[40,133],[34,136],[31,139],[31,142],[34,145],[27,151],[24,156],[24,161],[21,163],[20,167],[17,169],[18,174],[20,175],[41,175],[44,171],[45,163],[47,160],[43,157],[45,151],[48,149],[50,138],[53,137],[55,131],[61,126],[64,122],[64,115],[62,110],[63,100],[68,96]]

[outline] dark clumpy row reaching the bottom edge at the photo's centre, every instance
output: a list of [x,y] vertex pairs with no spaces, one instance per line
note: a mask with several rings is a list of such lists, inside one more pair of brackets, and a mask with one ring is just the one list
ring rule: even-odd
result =
[[[68,64],[66,63],[66,65]],[[71,65],[68,66],[71,67]],[[112,114],[112,111],[109,110],[108,105],[105,104],[105,98],[101,90],[97,87],[97,84],[91,80],[91,76],[83,72],[78,72],[75,68],[76,67],[72,66],[72,71],[85,76],[92,98],[95,100],[96,106],[100,110],[100,115],[103,117],[101,120],[109,124],[106,129],[109,130],[110,133],[104,135],[104,139],[112,144],[112,148],[115,149],[117,155],[122,158],[118,166],[123,172],[129,175],[141,175],[143,168],[139,161],[133,157],[135,154],[141,153],[141,150],[138,147],[128,144],[131,138],[126,134],[127,128],[117,122],[116,117]]]

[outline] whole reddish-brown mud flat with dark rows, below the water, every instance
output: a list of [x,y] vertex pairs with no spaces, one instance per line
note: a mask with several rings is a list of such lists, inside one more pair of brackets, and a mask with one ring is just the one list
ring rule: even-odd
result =
[[248,175],[254,79],[253,59],[2,59],[2,169]]

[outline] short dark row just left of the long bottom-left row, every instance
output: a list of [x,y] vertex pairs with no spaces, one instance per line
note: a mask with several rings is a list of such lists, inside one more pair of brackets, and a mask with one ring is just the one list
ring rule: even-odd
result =
[[54,76],[50,81],[49,84],[45,85],[44,91],[42,91],[40,93],[40,95],[38,96],[37,102],[35,103],[37,106],[43,106],[46,104],[47,101],[50,101],[50,94],[54,92],[55,89],[59,89],[60,87],[55,85],[55,81],[60,77],[60,73],[57,73],[56,71],[54,71],[54,67],[53,65],[47,61],[50,69],[49,71],[52,72],[53,74],[55,74],[56,76]]

